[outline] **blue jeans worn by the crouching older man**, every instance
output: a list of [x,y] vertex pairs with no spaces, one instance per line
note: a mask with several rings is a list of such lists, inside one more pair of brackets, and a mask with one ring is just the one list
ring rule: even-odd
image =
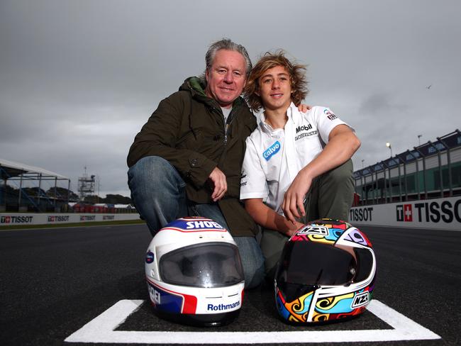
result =
[[[191,203],[186,183],[177,170],[162,157],[148,156],[128,169],[131,199],[140,216],[155,235],[160,228],[184,216],[211,218],[227,230],[228,224],[217,203]],[[253,237],[235,237],[245,275],[245,289],[258,286],[264,279],[264,257]]]

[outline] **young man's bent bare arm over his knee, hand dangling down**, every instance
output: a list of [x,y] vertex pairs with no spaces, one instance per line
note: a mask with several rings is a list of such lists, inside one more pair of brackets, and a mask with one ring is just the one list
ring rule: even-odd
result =
[[328,144],[299,171],[285,193],[282,210],[289,221],[294,223],[295,218],[306,215],[304,196],[311,188],[313,179],[349,160],[359,147],[360,140],[348,125],[337,125],[331,130]]

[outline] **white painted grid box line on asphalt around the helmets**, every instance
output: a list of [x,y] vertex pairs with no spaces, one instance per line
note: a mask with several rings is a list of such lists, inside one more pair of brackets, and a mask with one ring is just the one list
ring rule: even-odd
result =
[[373,300],[367,309],[394,329],[375,330],[304,330],[299,332],[162,332],[115,330],[144,301],[123,300],[101,313],[66,342],[104,342],[136,344],[273,344],[310,342],[372,342],[396,340],[432,340],[441,337],[410,320],[380,301]]

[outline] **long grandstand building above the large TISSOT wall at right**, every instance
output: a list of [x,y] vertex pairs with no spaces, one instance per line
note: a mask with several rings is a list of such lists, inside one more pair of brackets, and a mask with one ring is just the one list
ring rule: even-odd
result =
[[460,196],[460,130],[357,170],[354,179],[357,206]]

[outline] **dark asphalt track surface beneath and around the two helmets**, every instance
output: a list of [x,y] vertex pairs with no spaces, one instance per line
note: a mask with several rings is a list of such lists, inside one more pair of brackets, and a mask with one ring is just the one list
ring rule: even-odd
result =
[[[370,226],[362,230],[377,254],[372,303],[377,301],[396,312],[400,317],[394,325],[370,311],[360,318],[330,325],[287,325],[277,318],[270,285],[245,292],[240,316],[230,325],[178,325],[154,316],[148,303],[144,257],[150,233],[145,225],[0,231],[0,345],[103,345],[101,340],[91,339],[99,332],[103,334],[104,329],[104,323],[99,326],[100,320],[94,319],[109,308],[112,310],[106,316],[116,319],[113,306],[133,302],[140,308],[125,316],[123,323],[122,318],[115,328],[130,331],[129,340],[121,344],[116,343],[120,340],[109,339],[104,345],[142,342],[142,332],[152,331],[170,332],[163,335],[175,340],[158,344],[151,339],[157,345],[182,342],[184,332],[196,334],[184,334],[189,339],[182,345],[199,345],[196,342],[203,332],[213,333],[209,345],[240,345],[240,339],[234,340],[232,335],[250,335],[250,340],[254,335],[250,343],[260,345],[461,345],[461,232]],[[408,319],[436,338],[413,340],[405,322]],[[65,341],[90,321],[95,321],[96,328],[87,333],[87,342]],[[341,339],[344,335],[358,335],[364,330],[370,330],[370,335],[384,335],[394,328],[403,330],[401,335],[410,340],[396,337],[393,341],[340,342],[348,340]],[[261,343],[258,335],[264,333],[256,332],[264,331],[280,333],[275,334],[274,343]],[[336,338],[328,336],[318,343],[315,341],[322,339],[310,333],[308,339],[295,337],[289,344],[280,343],[284,337],[296,335],[283,332],[300,331]],[[421,334],[421,330],[414,333]]]

